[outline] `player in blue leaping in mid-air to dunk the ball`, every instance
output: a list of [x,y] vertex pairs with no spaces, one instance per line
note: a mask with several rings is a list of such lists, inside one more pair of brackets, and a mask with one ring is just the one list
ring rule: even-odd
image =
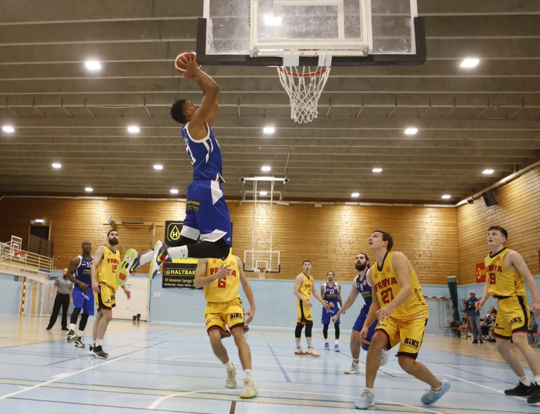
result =
[[158,240],[153,250],[143,254],[128,250],[116,271],[119,286],[149,261],[149,276],[153,279],[169,259],[226,258],[230,252],[231,218],[221,189],[221,183],[225,182],[221,176],[221,150],[211,129],[219,111],[219,85],[200,70],[191,54],[186,55],[184,66],[187,68],[184,77],[196,81],[204,97],[200,106],[180,99],[171,108],[172,119],[184,124],[181,134],[193,165],[181,237],[169,245]]

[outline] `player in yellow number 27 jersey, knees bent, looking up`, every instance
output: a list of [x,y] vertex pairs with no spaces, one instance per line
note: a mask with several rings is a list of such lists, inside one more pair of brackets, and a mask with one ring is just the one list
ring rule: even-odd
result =
[[360,339],[368,335],[375,319],[379,323],[366,358],[366,388],[354,406],[367,409],[374,405],[373,384],[381,364],[381,351],[393,348],[397,343],[400,343],[397,351],[400,367],[430,385],[420,401],[433,404],[450,389],[450,383],[446,379],[439,381],[426,365],[415,361],[428,322],[428,304],[416,273],[407,256],[390,251],[394,240],[389,233],[375,230],[368,244],[377,261],[367,272],[373,302],[360,331]]

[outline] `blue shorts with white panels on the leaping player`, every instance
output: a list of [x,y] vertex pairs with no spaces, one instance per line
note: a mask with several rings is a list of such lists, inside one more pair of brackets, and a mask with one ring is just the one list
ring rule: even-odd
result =
[[187,187],[186,218],[180,234],[197,240],[231,244],[231,216],[225,204],[221,184],[211,180],[193,180]]

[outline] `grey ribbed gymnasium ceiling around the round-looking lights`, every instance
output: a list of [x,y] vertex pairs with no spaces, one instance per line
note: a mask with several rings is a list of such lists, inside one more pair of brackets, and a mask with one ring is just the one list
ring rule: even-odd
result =
[[[240,177],[271,165],[275,176],[286,167],[289,182],[276,184],[284,199],[436,203],[448,194],[454,204],[536,160],[540,2],[419,0],[418,9],[426,63],[332,68],[307,125],[289,118],[275,68],[205,67],[221,86],[213,129],[226,197],[241,197]],[[200,102],[173,61],[195,50],[202,13],[202,0],[3,0],[0,126],[15,132],[0,130],[0,194],[185,195],[192,168],[168,111],[180,97]],[[467,57],[480,64],[460,67]],[[89,59],[102,69],[88,71]],[[404,135],[409,127],[419,131]]]

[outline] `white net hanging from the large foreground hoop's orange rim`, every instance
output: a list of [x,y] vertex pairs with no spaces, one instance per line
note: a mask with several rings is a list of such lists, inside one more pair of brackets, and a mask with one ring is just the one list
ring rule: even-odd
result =
[[317,103],[321,97],[322,88],[330,74],[330,67],[318,66],[311,72],[309,66],[298,67],[278,66],[281,85],[291,101],[291,118],[298,123],[311,122],[317,118]]

